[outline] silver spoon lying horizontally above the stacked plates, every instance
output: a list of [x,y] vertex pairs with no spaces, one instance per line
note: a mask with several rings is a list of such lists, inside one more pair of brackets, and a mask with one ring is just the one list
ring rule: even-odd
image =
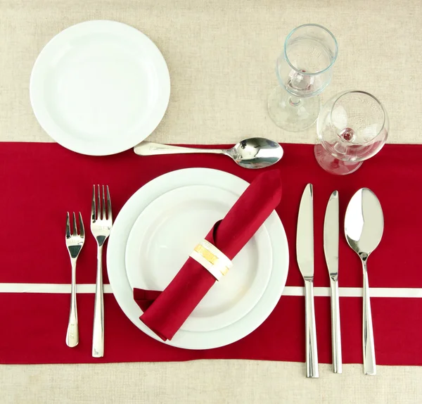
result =
[[196,149],[193,147],[169,146],[143,141],[134,147],[139,156],[179,153],[215,153],[231,157],[243,168],[264,168],[277,163],[283,157],[283,148],[269,139],[252,137],[239,141],[231,149]]

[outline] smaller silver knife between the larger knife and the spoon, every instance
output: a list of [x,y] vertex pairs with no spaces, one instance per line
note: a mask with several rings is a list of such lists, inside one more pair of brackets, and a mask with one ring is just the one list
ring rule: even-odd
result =
[[342,372],[340,305],[338,299],[338,237],[338,191],[334,191],[328,200],[324,220],[324,254],[331,286],[331,344],[334,373]]

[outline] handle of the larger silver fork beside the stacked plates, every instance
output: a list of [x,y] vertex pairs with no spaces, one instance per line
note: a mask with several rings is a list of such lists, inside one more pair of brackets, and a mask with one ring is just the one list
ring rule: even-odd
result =
[[97,277],[94,303],[94,329],[92,332],[92,356],[104,356],[104,297],[103,297],[103,246],[97,248]]

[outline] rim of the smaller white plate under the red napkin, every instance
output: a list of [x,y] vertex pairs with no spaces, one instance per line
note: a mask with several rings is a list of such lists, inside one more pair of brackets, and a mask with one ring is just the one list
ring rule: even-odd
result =
[[[220,194],[218,194],[218,192],[220,192]],[[134,225],[127,239],[127,245],[125,250],[125,265],[127,278],[131,286],[133,286],[133,279],[131,279],[129,267],[137,267],[137,264],[134,263],[139,263],[139,256],[135,253],[136,244],[139,244],[141,242],[139,230],[137,229],[142,227],[148,227],[148,223],[151,224],[151,221],[155,220],[157,215],[162,215],[161,212],[158,212],[156,207],[154,208],[158,200],[161,199],[161,201],[158,202],[158,205],[160,205],[160,203],[162,204],[162,201],[165,201],[165,204],[167,204],[166,207],[170,208],[170,203],[167,201],[168,198],[171,198],[171,203],[174,203],[174,201],[176,201],[176,203],[181,203],[183,199],[191,198],[192,194],[194,196],[200,197],[206,196],[207,201],[210,200],[210,197],[225,200],[226,198],[229,199],[229,196],[232,196],[234,201],[236,201],[236,199],[238,198],[238,196],[232,191],[222,189],[221,187],[211,187],[210,185],[190,185],[187,187],[179,187],[167,191],[164,194],[158,196],[158,198],[156,198],[148,206],[146,206],[145,209],[143,209],[141,214],[134,222]],[[229,203],[229,205],[231,206],[231,203]],[[151,213],[151,208],[155,209],[153,213]],[[150,221],[148,222],[148,220]],[[141,232],[145,231],[145,229],[141,229]],[[136,234],[134,232],[136,232]],[[258,250],[261,251],[261,253],[259,254],[260,258],[258,262],[260,268],[257,270],[257,277],[259,277],[259,279],[256,279],[255,277],[255,282],[253,282],[254,287],[245,292],[245,295],[241,298],[239,303],[234,306],[231,306],[231,310],[227,310],[224,313],[219,313],[218,315],[206,318],[188,317],[186,322],[184,322],[184,324],[182,325],[181,330],[190,332],[208,332],[213,331],[215,329],[227,327],[229,324],[233,324],[234,322],[241,319],[241,317],[244,317],[247,313],[249,313],[250,310],[252,310],[252,308],[255,306],[255,304],[260,300],[260,298],[264,294],[265,289],[267,289],[269,277],[271,276],[271,240],[269,239],[269,234],[264,225],[262,225],[260,229],[258,229],[258,231],[254,234],[253,238],[255,238],[256,247],[258,248]],[[130,254],[131,252],[133,253],[133,255]],[[236,260],[234,260],[234,264],[236,266]],[[234,268],[233,270],[236,270],[236,268]],[[224,278],[221,282],[224,282]]]

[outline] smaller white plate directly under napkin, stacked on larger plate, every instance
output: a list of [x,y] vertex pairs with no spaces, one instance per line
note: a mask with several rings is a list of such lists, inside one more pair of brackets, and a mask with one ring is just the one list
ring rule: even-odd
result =
[[[168,191],[139,215],[126,246],[126,272],[132,288],[162,291],[193,248],[238,196],[222,188],[196,185]],[[260,300],[272,267],[271,241],[261,226],[180,329],[206,332],[233,324]]]

